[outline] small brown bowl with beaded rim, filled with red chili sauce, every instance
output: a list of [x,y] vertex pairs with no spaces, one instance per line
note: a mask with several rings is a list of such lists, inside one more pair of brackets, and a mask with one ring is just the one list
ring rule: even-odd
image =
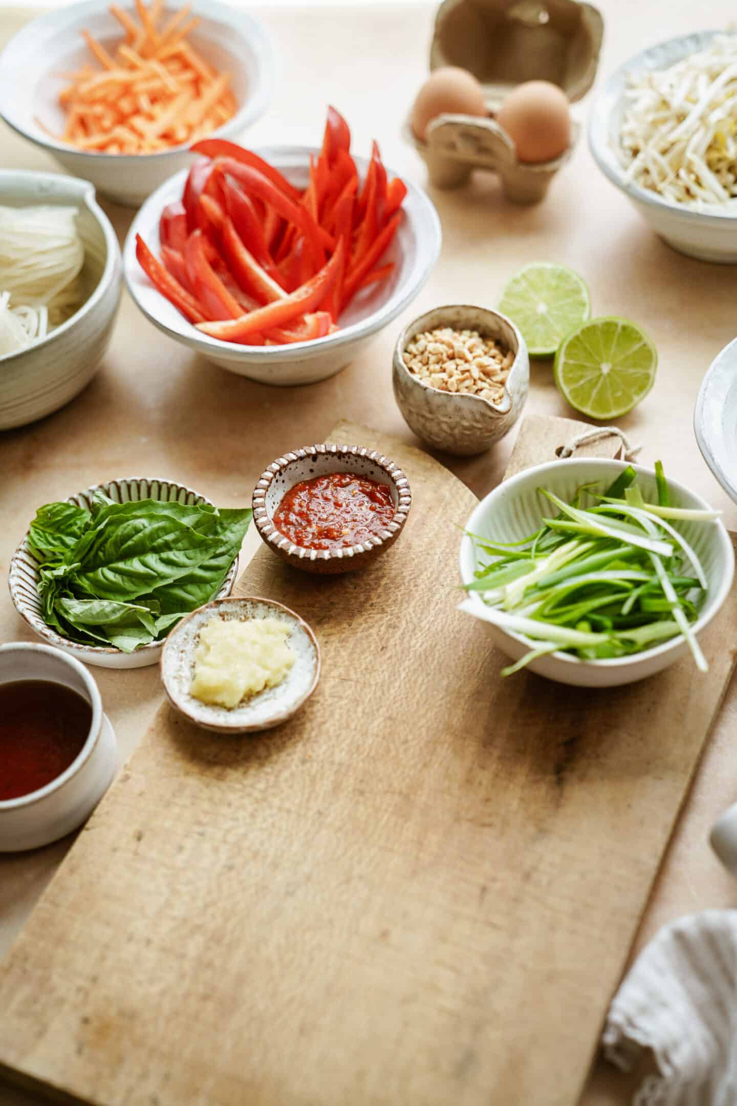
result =
[[407,477],[376,449],[305,446],[261,473],[253,519],[263,541],[297,568],[364,568],[392,545],[407,521]]

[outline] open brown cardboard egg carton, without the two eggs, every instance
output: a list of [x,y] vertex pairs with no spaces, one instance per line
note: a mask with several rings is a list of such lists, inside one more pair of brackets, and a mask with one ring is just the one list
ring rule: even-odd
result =
[[506,196],[535,204],[573,152],[580,126],[571,121],[567,150],[550,161],[520,161],[512,137],[494,119],[505,95],[525,81],[550,81],[569,102],[593,84],[603,38],[601,13],[577,0],[444,0],[435,15],[430,69],[457,65],[481,82],[489,116],[443,114],[424,139],[404,134],[436,188],[457,188],[474,168],[498,173]]

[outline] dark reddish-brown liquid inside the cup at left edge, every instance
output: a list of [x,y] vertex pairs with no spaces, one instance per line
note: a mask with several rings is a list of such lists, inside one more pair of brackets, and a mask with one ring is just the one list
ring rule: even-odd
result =
[[65,772],[91,723],[90,703],[62,684],[0,684],[0,802],[29,795]]

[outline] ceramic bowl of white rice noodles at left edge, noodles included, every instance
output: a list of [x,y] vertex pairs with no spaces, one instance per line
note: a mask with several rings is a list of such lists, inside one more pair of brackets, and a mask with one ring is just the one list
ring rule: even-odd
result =
[[0,170],[0,430],[50,415],[90,383],[122,286],[117,238],[91,184]]

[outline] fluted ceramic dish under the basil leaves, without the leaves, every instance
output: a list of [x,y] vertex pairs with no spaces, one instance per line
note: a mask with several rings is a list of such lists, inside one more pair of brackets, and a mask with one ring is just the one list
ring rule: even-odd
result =
[[[159,499],[168,503],[209,503],[212,505],[211,500],[192,491],[191,488],[156,477],[125,477],[120,480],[110,480],[108,483],[95,484],[85,491],[77,492],[76,495],[70,495],[66,502],[90,509],[92,497],[96,491],[104,492],[116,503]],[[62,649],[63,653],[76,657],[77,660],[83,660],[86,665],[99,665],[102,668],[145,668],[147,665],[158,662],[164,649],[164,641],[151,641],[148,645],[139,646],[133,653],[123,653],[114,646],[80,645],[76,641],[70,641],[53,630],[51,626],[48,626],[43,620],[39,595],[39,565],[29,550],[28,538],[27,533],[13,553],[8,584],[15,609],[39,637],[42,637],[49,645]],[[228,575],[215,598],[230,595],[236,575],[238,556],[228,570]]]

